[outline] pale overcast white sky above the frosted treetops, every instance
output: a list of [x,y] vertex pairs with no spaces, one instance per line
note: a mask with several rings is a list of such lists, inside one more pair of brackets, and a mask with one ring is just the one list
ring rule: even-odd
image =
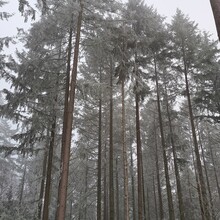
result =
[[[123,0],[126,1],[126,0]],[[24,18],[19,16],[18,0],[8,0],[9,4],[0,11],[12,11],[16,15],[9,19],[8,22],[0,21],[0,37],[6,35],[15,35],[16,27],[23,26],[28,28],[28,24],[24,24]],[[29,0],[29,2],[36,2],[36,0]],[[187,14],[191,20],[198,23],[201,30],[209,31],[213,39],[217,40],[217,33],[215,29],[214,18],[211,11],[209,0],[145,0],[148,5],[153,5],[159,14],[166,16],[169,21],[172,15],[175,14],[177,8]]]

